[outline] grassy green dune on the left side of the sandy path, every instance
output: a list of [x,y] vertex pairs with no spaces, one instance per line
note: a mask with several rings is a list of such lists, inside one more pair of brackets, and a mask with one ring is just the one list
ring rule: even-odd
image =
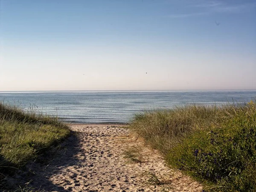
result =
[[0,173],[9,174],[46,154],[49,147],[70,135],[67,125],[35,112],[0,103]]

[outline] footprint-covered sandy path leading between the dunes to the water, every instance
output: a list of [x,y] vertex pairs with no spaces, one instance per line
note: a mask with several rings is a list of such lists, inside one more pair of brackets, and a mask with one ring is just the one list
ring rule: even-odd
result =
[[[123,125],[70,124],[70,127],[73,136],[52,151],[53,160],[29,163],[29,171],[19,171],[15,179],[29,182],[28,188],[39,191],[202,191],[199,183],[168,168],[156,150]],[[142,163],[124,158],[124,151],[132,147],[139,151]],[[156,180],[154,176],[158,184],[151,183]]]

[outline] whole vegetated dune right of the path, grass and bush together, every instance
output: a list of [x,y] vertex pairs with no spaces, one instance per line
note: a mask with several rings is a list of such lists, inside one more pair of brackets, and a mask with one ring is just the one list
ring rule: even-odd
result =
[[130,125],[207,191],[256,191],[256,103],[137,114]]

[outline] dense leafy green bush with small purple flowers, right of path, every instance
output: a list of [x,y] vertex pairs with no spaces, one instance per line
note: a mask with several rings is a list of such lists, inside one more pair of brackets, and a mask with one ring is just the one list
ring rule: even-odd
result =
[[192,131],[166,159],[205,191],[256,191],[256,104],[222,110],[218,122]]

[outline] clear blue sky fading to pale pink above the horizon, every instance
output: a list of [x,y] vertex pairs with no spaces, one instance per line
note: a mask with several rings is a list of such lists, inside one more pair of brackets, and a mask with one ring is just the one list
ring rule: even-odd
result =
[[0,0],[0,91],[255,90],[255,0]]

